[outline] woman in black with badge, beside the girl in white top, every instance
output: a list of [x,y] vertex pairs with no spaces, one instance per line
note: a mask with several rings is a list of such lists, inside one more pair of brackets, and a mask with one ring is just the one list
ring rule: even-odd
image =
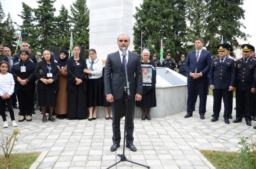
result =
[[22,49],[19,53],[20,59],[12,66],[11,73],[16,82],[20,118],[19,122],[31,121],[33,112],[33,101],[35,95],[35,63],[29,59],[29,51]]

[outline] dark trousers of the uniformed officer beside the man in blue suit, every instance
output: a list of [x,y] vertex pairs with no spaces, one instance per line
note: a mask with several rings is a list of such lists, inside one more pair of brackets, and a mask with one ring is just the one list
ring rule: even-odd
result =
[[228,89],[215,89],[214,90],[214,95],[213,95],[213,117],[214,118],[219,118],[219,112],[221,112],[221,100],[223,98],[224,102],[224,119],[229,118],[229,112],[230,112],[230,102],[233,102],[230,99],[230,93],[233,94],[233,91],[228,91]]

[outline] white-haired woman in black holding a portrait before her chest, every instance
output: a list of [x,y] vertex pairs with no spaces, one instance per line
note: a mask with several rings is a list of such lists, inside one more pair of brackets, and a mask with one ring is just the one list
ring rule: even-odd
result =
[[[151,120],[151,107],[156,107],[156,67],[152,60],[149,60],[150,53],[143,50],[141,68],[143,72],[143,95],[141,101],[136,101],[136,106],[141,107],[141,120]],[[146,115],[147,110],[147,115]]]

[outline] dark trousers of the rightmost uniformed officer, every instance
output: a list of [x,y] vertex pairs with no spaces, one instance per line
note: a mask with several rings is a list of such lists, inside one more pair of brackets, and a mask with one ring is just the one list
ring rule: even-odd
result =
[[236,118],[244,119],[251,122],[253,112],[253,93],[251,91],[239,91],[236,89]]

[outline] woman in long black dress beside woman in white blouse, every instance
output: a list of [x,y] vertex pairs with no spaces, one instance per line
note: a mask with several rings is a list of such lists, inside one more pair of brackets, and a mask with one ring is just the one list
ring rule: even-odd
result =
[[87,114],[87,86],[84,69],[87,69],[86,60],[79,57],[81,48],[73,47],[73,57],[67,62],[67,118],[84,119]]

